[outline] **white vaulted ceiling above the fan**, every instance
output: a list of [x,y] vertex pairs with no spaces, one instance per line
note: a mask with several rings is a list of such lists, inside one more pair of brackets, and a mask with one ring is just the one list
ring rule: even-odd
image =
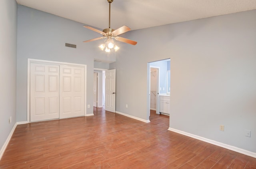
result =
[[[108,28],[107,0],[16,0],[96,28]],[[132,30],[256,9],[256,0],[114,0],[111,28]]]

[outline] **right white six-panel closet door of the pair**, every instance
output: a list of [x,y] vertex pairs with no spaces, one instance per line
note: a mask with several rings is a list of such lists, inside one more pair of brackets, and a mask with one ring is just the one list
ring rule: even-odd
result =
[[60,66],[60,118],[84,116],[84,68]]

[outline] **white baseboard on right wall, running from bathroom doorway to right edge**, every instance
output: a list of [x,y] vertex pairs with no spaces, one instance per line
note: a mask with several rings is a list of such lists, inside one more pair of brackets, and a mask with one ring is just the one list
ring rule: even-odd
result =
[[173,132],[175,132],[175,133],[182,134],[182,135],[186,135],[186,136],[188,136],[188,137],[192,137],[192,138],[194,138],[194,139],[198,139],[198,140],[201,140],[201,141],[204,141],[204,142],[213,144],[213,145],[217,145],[217,146],[223,147],[223,148],[225,148],[225,149],[229,149],[229,150],[232,150],[232,151],[236,151],[236,152],[238,152],[238,153],[242,153],[242,154],[245,154],[245,155],[248,155],[248,156],[251,156],[251,157],[256,158],[256,153],[251,152],[251,151],[248,151],[248,150],[245,150],[245,149],[241,149],[241,148],[238,148],[238,147],[234,147],[234,146],[232,146],[232,145],[220,143],[220,142],[218,142],[218,141],[214,141],[214,140],[211,140],[211,139],[206,139],[206,138],[204,138],[204,137],[200,137],[200,136],[198,136],[198,135],[186,133],[186,132],[184,132],[184,131],[180,131],[180,130],[177,130],[177,129],[173,129],[173,128],[170,128],[170,127],[168,128],[168,130],[173,131]]

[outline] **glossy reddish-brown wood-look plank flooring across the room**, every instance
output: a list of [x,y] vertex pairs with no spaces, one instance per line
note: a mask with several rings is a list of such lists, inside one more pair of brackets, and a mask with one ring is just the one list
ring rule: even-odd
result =
[[256,158],[94,108],[94,116],[18,125],[0,169],[256,169]]

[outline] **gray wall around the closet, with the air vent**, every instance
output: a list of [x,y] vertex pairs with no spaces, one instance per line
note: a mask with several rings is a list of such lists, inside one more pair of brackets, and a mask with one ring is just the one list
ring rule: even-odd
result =
[[[85,16],[86,17],[86,16]],[[87,65],[87,113],[93,113],[94,58],[115,61],[98,49],[101,41],[83,43],[101,35],[74,22],[46,12],[18,5],[17,51],[17,121],[27,120],[27,62],[28,58]],[[76,44],[75,48],[65,43]]]

